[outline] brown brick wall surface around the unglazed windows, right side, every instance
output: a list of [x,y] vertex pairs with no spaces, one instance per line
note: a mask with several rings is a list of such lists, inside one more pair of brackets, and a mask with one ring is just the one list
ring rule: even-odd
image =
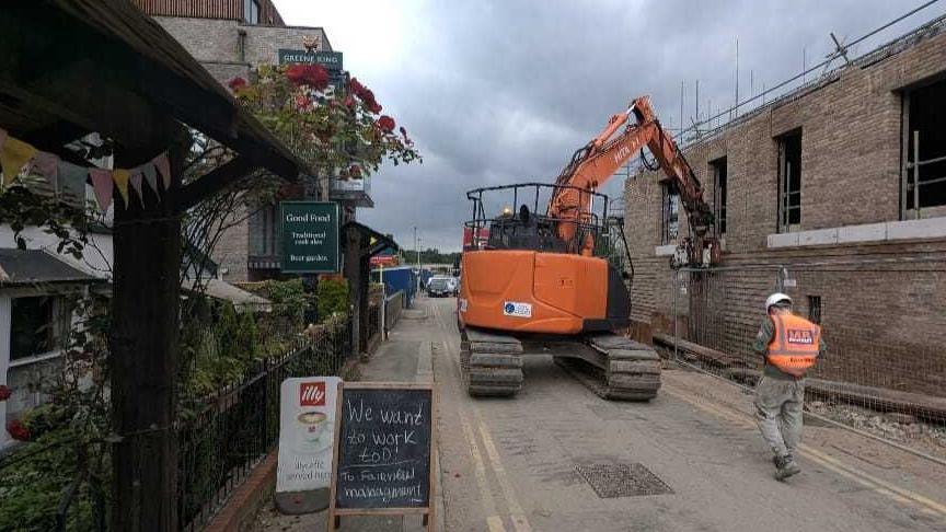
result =
[[[687,158],[711,204],[716,198],[710,162],[727,158],[723,263],[742,269],[725,274],[725,281],[712,290],[703,287],[700,292],[700,286],[690,286],[682,293],[677,287],[681,329],[691,337],[702,334],[703,338],[694,339],[716,344],[712,347],[747,352],[764,315],[764,297],[775,287],[774,265],[787,265],[797,282],[788,289],[797,297],[796,310],[807,314],[808,296],[821,297],[824,335],[833,355],[819,370],[823,377],[943,394],[946,302],[936,294],[946,293],[946,241],[776,250],[768,247],[766,239],[777,232],[775,138],[797,128],[801,128],[801,230],[897,221],[900,90],[944,73],[946,35],[926,36],[886,58],[849,67],[688,147]],[[625,230],[636,274],[632,317],[650,323],[657,332],[671,332],[672,270],[669,257],[655,254],[661,244],[660,177],[658,172],[644,172],[627,180]],[[687,236],[683,215],[680,228],[680,238]],[[933,262],[885,263],[891,258]],[[857,262],[864,264],[849,264]],[[800,263],[833,266],[793,268]],[[694,298],[705,298],[704,303]]]

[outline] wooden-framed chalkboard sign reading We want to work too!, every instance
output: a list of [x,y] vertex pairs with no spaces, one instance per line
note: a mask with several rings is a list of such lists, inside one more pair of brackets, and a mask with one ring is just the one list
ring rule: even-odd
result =
[[343,383],[328,530],[338,516],[423,513],[432,525],[430,384]]

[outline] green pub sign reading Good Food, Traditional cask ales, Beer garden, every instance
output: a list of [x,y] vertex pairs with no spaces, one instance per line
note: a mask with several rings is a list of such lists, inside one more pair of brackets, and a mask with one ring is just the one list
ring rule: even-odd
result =
[[282,271],[338,271],[338,204],[282,201],[279,219],[282,223]]

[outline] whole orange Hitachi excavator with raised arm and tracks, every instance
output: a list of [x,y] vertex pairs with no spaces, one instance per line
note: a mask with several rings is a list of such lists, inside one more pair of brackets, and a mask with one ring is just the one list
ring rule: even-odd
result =
[[[554,184],[466,193],[473,218],[464,228],[471,238],[462,255],[458,319],[470,395],[514,395],[522,388],[522,357],[552,355],[602,397],[656,396],[659,357],[619,334],[630,324],[631,302],[624,276],[609,263],[608,236],[619,230],[623,239],[623,229],[608,223],[608,198],[597,192],[638,151],[644,158],[644,147],[688,212],[688,262],[714,262],[718,245],[703,188],[649,100],[638,97],[575,152]],[[487,213],[500,205],[506,207],[498,215]]]

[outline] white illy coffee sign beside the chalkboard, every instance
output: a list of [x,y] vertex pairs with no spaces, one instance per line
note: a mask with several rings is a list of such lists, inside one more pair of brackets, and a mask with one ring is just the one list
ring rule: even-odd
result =
[[[331,485],[335,402],[341,382],[338,377],[282,381],[277,499],[278,494],[322,490]],[[324,500],[327,504],[327,491]]]

